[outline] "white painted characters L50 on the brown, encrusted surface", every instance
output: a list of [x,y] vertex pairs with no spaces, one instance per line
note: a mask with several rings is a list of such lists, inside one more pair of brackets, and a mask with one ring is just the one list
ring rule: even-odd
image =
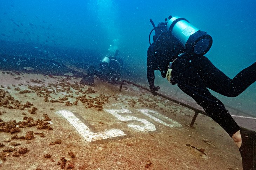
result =
[[[130,116],[130,114],[132,114],[132,112],[127,109],[106,109],[105,111],[112,114],[115,118],[117,118],[120,121],[127,121],[127,126],[130,128],[133,128],[136,131],[150,132],[150,131],[156,130],[155,125],[150,123],[148,120],[142,119],[142,118],[137,118],[135,116]],[[149,118],[153,119],[154,121],[161,123],[165,126],[168,126],[171,128],[182,127],[182,125],[179,124],[178,122],[176,122],[166,116],[163,116],[162,114],[160,114],[156,111],[148,110],[148,109],[139,109],[138,111],[141,112],[142,114],[144,114],[145,116],[148,116]],[[82,123],[82,121],[78,117],[76,117],[72,112],[67,111],[67,110],[60,110],[60,111],[57,111],[56,113],[61,114],[64,118],[66,118],[69,121],[69,123],[88,142],[126,135],[120,129],[110,129],[110,130],[106,130],[102,133],[101,132],[94,133],[84,123]],[[152,114],[161,118],[162,120],[160,120],[159,118],[156,118]],[[164,122],[163,119],[167,120],[170,123]],[[129,121],[132,121],[132,122],[129,122]]]

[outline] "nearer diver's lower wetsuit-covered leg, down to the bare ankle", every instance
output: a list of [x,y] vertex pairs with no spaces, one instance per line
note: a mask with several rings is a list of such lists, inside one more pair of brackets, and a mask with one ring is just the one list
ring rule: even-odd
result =
[[230,136],[240,130],[228,110],[225,109],[224,104],[211,95],[201,77],[193,69],[187,68],[180,71],[173,69],[172,75],[178,87],[202,106],[208,116],[223,127]]

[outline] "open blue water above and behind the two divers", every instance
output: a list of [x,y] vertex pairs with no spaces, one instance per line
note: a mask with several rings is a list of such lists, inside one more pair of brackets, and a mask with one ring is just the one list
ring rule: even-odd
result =
[[[33,56],[39,52],[73,62],[97,62],[119,49],[126,63],[124,75],[147,83],[146,52],[153,28],[149,20],[157,24],[169,15],[180,16],[213,37],[206,56],[233,78],[256,61],[255,9],[255,0],[1,0],[0,40],[27,44],[29,50],[12,47],[21,55],[33,51]],[[0,50],[0,54],[11,52]],[[157,79],[168,90],[165,80]],[[236,99],[221,98],[256,114],[255,92],[254,83]]]

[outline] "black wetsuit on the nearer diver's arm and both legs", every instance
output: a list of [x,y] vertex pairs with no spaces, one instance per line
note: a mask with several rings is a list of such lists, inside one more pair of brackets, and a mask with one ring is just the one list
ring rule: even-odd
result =
[[[147,54],[147,77],[149,85],[152,87],[154,86],[154,70],[159,69],[155,60],[156,58],[159,59],[159,56],[156,56],[152,45],[149,47]],[[177,57],[171,57],[169,61],[166,61],[166,65],[168,66],[168,62],[172,62],[175,58]],[[162,70],[166,69],[162,68]],[[211,95],[207,88],[224,96],[238,96],[250,84],[255,82],[256,62],[243,69],[233,79],[222,73],[205,56],[184,54],[174,60],[172,69],[171,75],[177,86],[202,106],[204,111],[223,127],[230,136],[240,130],[228,110],[225,109],[224,104]]]

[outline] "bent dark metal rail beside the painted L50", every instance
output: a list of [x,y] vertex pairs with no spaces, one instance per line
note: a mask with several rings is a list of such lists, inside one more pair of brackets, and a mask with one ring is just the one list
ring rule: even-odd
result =
[[[136,87],[139,87],[139,88],[141,88],[141,89],[144,89],[144,90],[147,90],[147,91],[151,92],[151,90],[150,90],[149,88],[140,86],[139,84],[136,84],[136,83],[131,82],[131,81],[128,81],[128,80],[123,80],[123,81],[121,82],[119,91],[122,90],[122,87],[123,87],[123,83],[124,83],[124,82],[126,82],[126,83],[128,83],[128,84],[132,84],[132,85],[134,85],[134,86],[136,86]],[[177,94],[177,92],[176,92],[176,94]],[[194,110],[194,111],[195,111],[195,114],[194,114],[193,119],[191,120],[191,123],[190,123],[190,125],[189,125],[190,127],[193,127],[193,126],[194,126],[194,123],[195,123],[195,121],[196,121],[197,115],[198,115],[199,113],[208,116],[206,112],[204,112],[204,111],[202,111],[202,110],[199,110],[199,109],[197,109],[197,108],[195,108],[195,107],[193,107],[193,106],[190,106],[190,105],[188,105],[188,104],[185,104],[185,103],[182,103],[182,102],[180,102],[180,101],[177,101],[177,100],[175,100],[175,99],[173,99],[173,98],[170,98],[170,97],[168,97],[168,96],[166,96],[166,95],[163,95],[163,94],[160,94],[160,93],[157,93],[157,92],[156,92],[156,95],[158,95],[158,96],[160,96],[160,97],[163,97],[163,98],[165,98],[165,99],[167,99],[167,100],[169,100],[169,101],[172,101],[172,102],[174,102],[174,103],[180,104],[180,105],[182,105],[182,106],[184,106],[184,107],[186,107],[186,108],[189,108],[189,109],[191,109],[191,110]],[[228,107],[229,107],[229,106],[228,106]],[[229,107],[229,108],[231,108],[231,107]],[[235,108],[232,108],[232,109],[235,109]],[[237,109],[235,109],[235,110],[237,110]],[[237,114],[238,114],[238,112],[242,112],[242,111],[237,110]],[[244,113],[244,112],[243,112],[243,113]],[[245,114],[246,114],[246,113],[245,113]],[[247,115],[249,115],[249,114],[247,114]],[[240,117],[240,118],[248,118],[248,119],[256,119],[256,118],[253,118],[253,117],[244,117],[244,116],[236,116],[236,115],[231,115],[231,116],[233,116],[233,117]],[[251,116],[251,115],[250,115],[250,116]]]

